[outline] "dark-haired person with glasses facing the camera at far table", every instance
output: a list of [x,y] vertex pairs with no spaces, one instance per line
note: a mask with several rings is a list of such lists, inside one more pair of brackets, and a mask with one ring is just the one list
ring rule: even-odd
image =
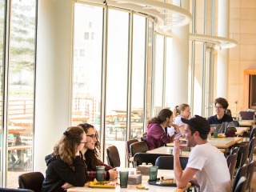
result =
[[216,114],[207,119],[211,127],[216,127],[218,133],[225,133],[227,137],[234,137],[237,131],[234,126],[233,118],[226,114],[229,103],[225,98],[216,98],[214,100]]

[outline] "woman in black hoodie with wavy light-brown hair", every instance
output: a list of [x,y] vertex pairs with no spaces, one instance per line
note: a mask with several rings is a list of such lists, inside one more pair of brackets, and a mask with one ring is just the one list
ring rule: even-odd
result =
[[46,156],[46,178],[42,192],[65,191],[63,185],[84,186],[88,175],[80,151],[86,143],[86,133],[79,126],[70,126],[54,146],[54,152]]

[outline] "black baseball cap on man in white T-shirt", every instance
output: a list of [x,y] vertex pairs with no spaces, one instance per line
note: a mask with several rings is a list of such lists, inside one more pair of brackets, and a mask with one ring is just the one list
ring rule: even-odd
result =
[[190,119],[182,118],[182,122],[193,126],[200,134],[209,134],[210,132],[210,123],[207,122],[206,118],[202,118],[197,114]]

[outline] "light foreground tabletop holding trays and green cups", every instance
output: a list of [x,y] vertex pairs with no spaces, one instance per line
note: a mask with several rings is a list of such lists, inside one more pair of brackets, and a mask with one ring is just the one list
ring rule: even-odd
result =
[[[129,170],[129,172],[134,171],[134,168],[119,168],[118,170]],[[158,169],[158,178],[161,177],[171,177],[174,178],[174,170],[159,170]],[[149,175],[142,175],[142,183],[138,185],[129,185],[127,188],[121,188],[119,185],[119,178],[110,182],[115,183],[114,188],[90,188],[88,184],[86,183],[85,186],[76,186],[76,187],[71,187],[67,190],[67,192],[138,192],[138,191],[149,191],[149,192],[182,192],[186,191],[188,188],[190,188],[191,183],[188,182],[186,187],[183,189],[179,189],[177,186],[159,186],[159,185],[151,185],[149,184]],[[142,186],[145,187],[146,189],[141,190],[138,189],[137,186]]]

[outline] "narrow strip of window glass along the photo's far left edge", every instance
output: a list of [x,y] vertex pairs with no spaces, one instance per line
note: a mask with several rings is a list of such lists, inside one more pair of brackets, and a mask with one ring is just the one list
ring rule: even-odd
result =
[[[5,30],[4,30],[4,19],[5,19],[5,0],[0,0],[0,100],[1,100],[1,109],[0,109],[0,126],[2,128],[2,81],[3,81],[3,63],[4,63],[4,57],[3,57],[3,50],[4,50],[4,34],[5,34]],[[0,128],[0,147],[2,148],[2,129]],[[0,161],[2,162],[2,150],[0,151]],[[0,165],[0,170],[2,170],[2,164]],[[0,186],[2,185],[2,181],[0,179]]]

